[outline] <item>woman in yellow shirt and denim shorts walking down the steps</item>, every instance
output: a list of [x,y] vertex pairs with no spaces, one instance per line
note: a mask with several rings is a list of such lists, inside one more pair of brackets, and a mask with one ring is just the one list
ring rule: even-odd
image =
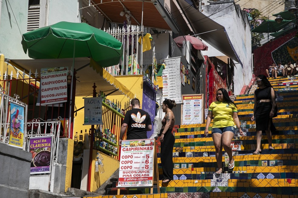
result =
[[215,174],[221,174],[222,168],[222,151],[223,148],[229,156],[229,169],[234,168],[234,159],[232,156],[231,141],[235,134],[235,124],[239,129],[240,135],[243,135],[243,131],[240,127],[240,122],[237,114],[237,106],[231,101],[227,91],[224,88],[217,90],[216,101],[210,104],[208,109],[208,116],[206,121],[205,136],[208,137],[208,128],[210,126],[212,117],[212,139],[215,147],[215,158],[217,162],[218,170]]

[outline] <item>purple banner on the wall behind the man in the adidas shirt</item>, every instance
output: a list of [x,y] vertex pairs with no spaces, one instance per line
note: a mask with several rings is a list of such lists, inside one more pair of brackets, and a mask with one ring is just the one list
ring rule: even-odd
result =
[[[156,109],[156,94],[154,91],[148,87],[145,83],[143,84],[143,102],[142,102],[142,109],[146,111],[151,118],[151,123],[154,121],[155,117],[155,109]],[[152,130],[147,131],[147,137],[153,134],[153,123],[152,123]]]

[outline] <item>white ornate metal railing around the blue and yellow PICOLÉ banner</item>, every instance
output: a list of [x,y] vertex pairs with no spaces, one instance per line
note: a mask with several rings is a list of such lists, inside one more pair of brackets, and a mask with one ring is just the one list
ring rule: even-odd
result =
[[[14,94],[14,97],[5,94],[4,89],[0,88],[0,142],[4,144],[9,143],[9,133],[10,133],[10,102],[22,105],[25,107],[24,113],[27,112],[28,106],[19,101],[19,96]],[[24,115],[24,125],[26,126],[27,116]],[[26,127],[25,127],[26,128]],[[26,129],[24,129],[24,142],[25,142]],[[23,142],[23,148],[24,147]]]

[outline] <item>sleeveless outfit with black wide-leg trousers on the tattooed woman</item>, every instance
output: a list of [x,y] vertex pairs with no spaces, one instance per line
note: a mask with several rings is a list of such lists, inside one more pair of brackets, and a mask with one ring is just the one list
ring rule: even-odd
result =
[[[162,127],[159,136],[164,131],[166,125],[166,119],[161,121]],[[173,148],[175,143],[175,137],[173,136],[172,130],[175,121],[172,120],[170,128],[164,134],[164,141],[161,143],[161,167],[163,179],[173,180]]]

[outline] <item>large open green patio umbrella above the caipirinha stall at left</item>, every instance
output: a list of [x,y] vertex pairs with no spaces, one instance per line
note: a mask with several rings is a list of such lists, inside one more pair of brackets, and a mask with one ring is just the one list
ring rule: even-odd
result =
[[33,59],[92,57],[100,66],[117,65],[122,43],[86,23],[59,23],[23,34],[24,52]]

